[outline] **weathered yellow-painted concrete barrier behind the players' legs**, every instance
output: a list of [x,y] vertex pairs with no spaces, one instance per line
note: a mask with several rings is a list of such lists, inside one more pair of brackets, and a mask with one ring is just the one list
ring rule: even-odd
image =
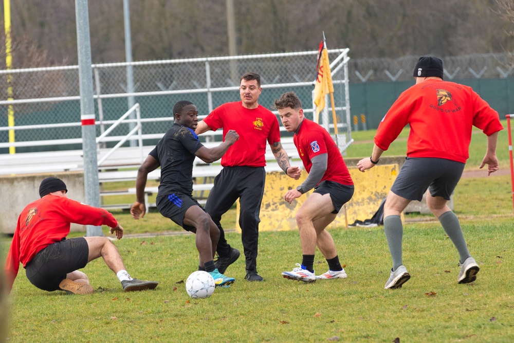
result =
[[[329,228],[347,227],[357,219],[365,220],[373,216],[393,185],[399,172],[397,164],[377,165],[369,171],[360,172],[357,167],[348,167],[354,180],[355,193],[352,200],[346,203]],[[264,197],[261,204],[260,231],[296,230],[295,215],[312,190],[297,198],[289,204],[284,200],[284,194],[290,189],[296,189],[307,178],[307,173],[302,170],[302,176],[295,180],[284,172],[266,173]],[[236,232],[241,232],[239,227],[240,204],[237,202]]]

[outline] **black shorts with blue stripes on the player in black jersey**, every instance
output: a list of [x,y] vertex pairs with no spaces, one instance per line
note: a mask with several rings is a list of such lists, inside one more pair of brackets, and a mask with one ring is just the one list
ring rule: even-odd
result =
[[205,209],[194,199],[191,195],[175,192],[170,195],[158,196],[156,199],[157,209],[166,218],[171,219],[176,224],[183,227],[186,231],[193,231],[195,227],[191,225],[184,225],[184,216],[186,211],[191,206],[199,206]]

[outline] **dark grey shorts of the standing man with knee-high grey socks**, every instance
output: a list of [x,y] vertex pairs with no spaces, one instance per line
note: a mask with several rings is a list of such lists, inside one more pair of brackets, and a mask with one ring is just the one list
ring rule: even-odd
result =
[[450,195],[461,179],[464,163],[444,158],[407,157],[394,180],[391,192],[408,200],[423,200],[423,194],[450,200]]

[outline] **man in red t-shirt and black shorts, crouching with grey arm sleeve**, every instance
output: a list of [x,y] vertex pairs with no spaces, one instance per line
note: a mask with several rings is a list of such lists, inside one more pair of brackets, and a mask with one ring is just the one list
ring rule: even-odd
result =
[[[339,262],[334,240],[325,228],[352,198],[352,177],[332,137],[321,125],[304,117],[302,103],[295,93],[282,94],[274,106],[287,132],[295,133],[293,141],[309,173],[300,186],[286,192],[284,199],[290,204],[305,192],[315,189],[296,214],[302,263],[297,263],[297,268],[282,273],[282,276],[307,283],[316,279],[344,279],[346,273]],[[314,274],[316,245],[328,263],[328,272],[318,276]]]

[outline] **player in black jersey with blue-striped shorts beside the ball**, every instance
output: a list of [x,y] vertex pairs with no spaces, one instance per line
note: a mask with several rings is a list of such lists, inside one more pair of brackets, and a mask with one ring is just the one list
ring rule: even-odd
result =
[[214,266],[214,252],[219,239],[219,229],[193,198],[193,162],[198,156],[205,163],[220,159],[239,138],[234,130],[225,135],[217,147],[208,149],[194,130],[198,123],[198,110],[189,101],[178,101],[173,107],[175,122],[159,140],[137,172],[136,198],[131,207],[134,219],[143,218],[144,187],[148,173],[161,167],[159,192],[156,205],[159,212],[187,231],[196,233],[196,248],[200,254],[199,269],[210,273],[216,286],[231,284],[234,278],[218,273]]

